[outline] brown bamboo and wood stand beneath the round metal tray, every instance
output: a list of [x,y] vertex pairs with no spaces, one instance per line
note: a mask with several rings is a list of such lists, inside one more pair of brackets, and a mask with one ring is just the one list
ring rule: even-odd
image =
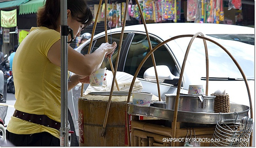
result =
[[[172,142],[175,142],[175,146],[183,146],[186,140],[189,140],[190,130],[189,133],[187,132],[189,128],[180,128],[180,123],[178,123],[176,137],[172,138],[172,127],[158,125],[159,123],[157,120],[132,120],[131,146],[171,146]],[[196,137],[192,130],[191,138],[200,141],[200,146],[209,146],[215,127],[195,127],[193,129]]]

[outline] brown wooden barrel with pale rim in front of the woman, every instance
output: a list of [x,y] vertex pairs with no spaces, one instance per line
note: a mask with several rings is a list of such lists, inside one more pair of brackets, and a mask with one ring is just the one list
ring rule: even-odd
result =
[[105,136],[102,127],[110,92],[92,92],[79,98],[79,146],[125,146],[128,92],[113,92]]

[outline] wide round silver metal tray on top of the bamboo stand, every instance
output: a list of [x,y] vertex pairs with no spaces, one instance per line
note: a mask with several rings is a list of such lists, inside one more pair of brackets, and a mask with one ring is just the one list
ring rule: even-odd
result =
[[[178,111],[177,122],[217,124],[218,120],[241,119],[248,116],[250,107],[241,104],[230,103],[230,113],[208,113],[208,112],[186,112]],[[237,112],[237,113],[236,113]],[[143,106],[128,103],[128,114],[155,117],[163,120],[173,121],[174,110],[163,109],[154,106]],[[233,123],[233,122],[232,122]]]

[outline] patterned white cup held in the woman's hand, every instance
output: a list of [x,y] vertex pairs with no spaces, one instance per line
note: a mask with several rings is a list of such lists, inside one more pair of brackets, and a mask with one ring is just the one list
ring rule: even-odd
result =
[[105,73],[106,73],[106,67],[103,69],[98,69],[95,73],[90,75],[90,85],[94,87],[101,87]]

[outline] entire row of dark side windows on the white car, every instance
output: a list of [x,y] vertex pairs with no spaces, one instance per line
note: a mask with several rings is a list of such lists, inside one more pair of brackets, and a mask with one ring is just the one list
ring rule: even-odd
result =
[[[125,41],[127,35],[128,35],[127,33],[124,34],[123,42]],[[118,34],[113,33],[111,35],[108,35],[108,41],[110,43],[115,41],[117,43],[117,47],[119,47],[119,40],[120,40],[120,33],[118,33]],[[155,39],[153,37],[150,37],[150,40],[151,40],[152,48],[154,48],[156,45],[158,45],[160,43],[160,41],[158,41],[157,39]],[[92,46],[93,49],[91,52],[95,51],[101,45],[102,42],[105,42],[105,36],[102,36],[102,37],[94,40],[93,46]],[[123,43],[122,43],[122,45],[123,45]],[[89,44],[85,45],[83,47],[83,49],[81,50],[81,53],[87,54],[88,47],[89,47]],[[116,57],[117,57],[117,53],[118,53],[117,49],[115,50],[115,52],[113,53],[113,56],[112,56],[113,67],[115,67],[115,64],[116,64]],[[123,57],[123,59],[122,59],[122,60],[125,60],[124,72],[134,75],[137,68],[139,67],[141,61],[143,60],[143,58],[146,56],[146,54],[149,51],[150,50],[149,50],[148,40],[147,40],[146,35],[145,34],[134,34],[134,38],[133,38],[130,48],[128,50],[127,58],[125,59],[125,57]],[[174,62],[171,54],[169,53],[169,50],[167,50],[165,46],[161,46],[156,51],[154,51],[154,57],[155,57],[156,65],[166,65],[169,67],[172,74],[179,75],[177,68],[175,66],[175,62]],[[153,66],[153,63],[152,63],[152,59],[150,56],[143,64],[143,67],[141,68],[137,77],[143,78],[145,70],[152,66]],[[111,70],[109,61],[107,62],[105,67],[107,67],[107,70]]]

